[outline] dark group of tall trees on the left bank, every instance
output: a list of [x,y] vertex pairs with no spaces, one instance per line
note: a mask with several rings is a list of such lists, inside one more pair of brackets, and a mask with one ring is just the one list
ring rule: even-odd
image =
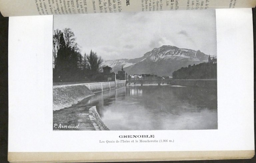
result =
[[103,59],[91,50],[82,56],[75,34],[69,28],[54,30],[53,82],[90,81],[100,71]]

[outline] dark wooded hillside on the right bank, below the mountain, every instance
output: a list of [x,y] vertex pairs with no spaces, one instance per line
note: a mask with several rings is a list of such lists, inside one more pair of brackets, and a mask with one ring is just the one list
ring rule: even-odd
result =
[[172,73],[173,79],[217,79],[217,63],[200,63],[181,67]]

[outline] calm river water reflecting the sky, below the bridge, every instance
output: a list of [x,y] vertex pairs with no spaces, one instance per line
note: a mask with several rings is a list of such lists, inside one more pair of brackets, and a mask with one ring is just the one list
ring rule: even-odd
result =
[[217,88],[131,85],[81,101],[110,130],[217,129]]

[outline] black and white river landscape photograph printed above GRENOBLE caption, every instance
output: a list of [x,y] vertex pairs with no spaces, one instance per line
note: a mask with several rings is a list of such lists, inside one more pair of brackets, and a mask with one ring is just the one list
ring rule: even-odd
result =
[[215,10],[54,15],[53,130],[218,129]]

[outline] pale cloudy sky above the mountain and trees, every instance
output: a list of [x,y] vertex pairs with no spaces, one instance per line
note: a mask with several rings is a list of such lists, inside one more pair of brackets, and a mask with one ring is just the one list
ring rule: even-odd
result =
[[53,29],[70,28],[82,54],[104,60],[138,58],[173,45],[217,55],[215,10],[55,15]]

